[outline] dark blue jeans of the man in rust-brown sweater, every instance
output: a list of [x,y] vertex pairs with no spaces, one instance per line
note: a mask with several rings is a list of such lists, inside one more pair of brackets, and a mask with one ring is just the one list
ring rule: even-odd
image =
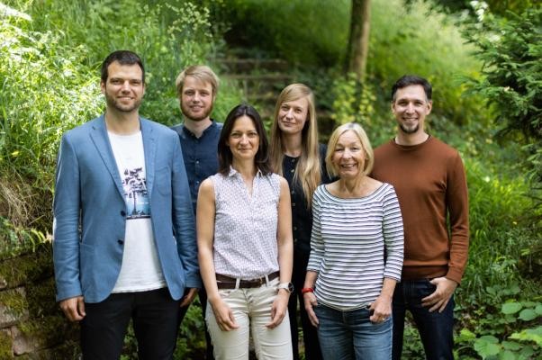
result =
[[402,281],[393,293],[393,360],[401,359],[404,316],[411,311],[420,332],[425,356],[429,360],[453,359],[454,297],[444,311],[429,312],[421,306],[421,299],[435,292],[437,286],[429,279]]

